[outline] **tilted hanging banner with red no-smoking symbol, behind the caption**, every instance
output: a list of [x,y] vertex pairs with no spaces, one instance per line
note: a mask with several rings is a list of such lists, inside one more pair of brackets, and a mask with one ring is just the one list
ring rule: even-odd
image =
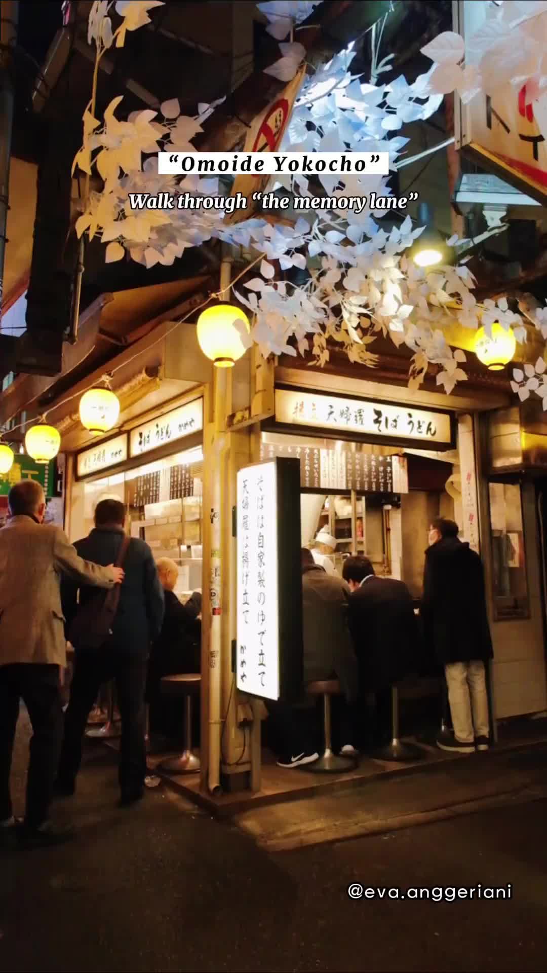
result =
[[[305,76],[306,65],[303,65],[278,97],[254,119],[252,125],[247,129],[245,144],[240,147],[239,152],[277,151]],[[241,220],[250,219],[253,213],[260,208],[260,203],[252,198],[253,193],[263,193],[271,178],[270,175],[236,176],[230,195],[237,196],[237,193],[241,193],[247,200],[247,206],[246,209],[235,209],[233,213],[227,213],[224,223],[232,225]]]

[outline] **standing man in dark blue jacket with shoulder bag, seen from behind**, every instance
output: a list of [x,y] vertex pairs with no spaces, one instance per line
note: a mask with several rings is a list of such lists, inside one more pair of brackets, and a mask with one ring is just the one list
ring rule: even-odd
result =
[[[120,500],[97,503],[94,529],[74,545],[80,557],[93,559],[98,564],[115,562],[124,539],[125,521],[126,508]],[[150,645],[162,630],[164,591],[152,552],[144,541],[130,539],[124,570],[125,582],[108,641],[98,649],[74,646],[74,676],[65,714],[56,791],[66,795],[74,793],[82,760],[82,739],[91,707],[100,686],[115,679],[122,717],[119,770],[122,804],[131,804],[144,792],[144,688]],[[79,591],[80,601],[84,604],[92,596],[92,589],[82,586]],[[66,631],[69,631],[77,611],[77,595],[78,586],[62,586]]]

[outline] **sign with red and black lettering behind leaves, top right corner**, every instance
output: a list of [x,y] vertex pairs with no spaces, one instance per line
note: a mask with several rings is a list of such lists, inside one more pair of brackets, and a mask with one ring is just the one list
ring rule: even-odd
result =
[[[472,37],[484,24],[487,4],[456,3],[454,29]],[[467,50],[465,64],[478,61]],[[487,171],[493,171],[522,193],[547,201],[547,98],[532,101],[526,85],[503,85],[481,91],[462,105],[456,96],[456,148],[465,150]]]

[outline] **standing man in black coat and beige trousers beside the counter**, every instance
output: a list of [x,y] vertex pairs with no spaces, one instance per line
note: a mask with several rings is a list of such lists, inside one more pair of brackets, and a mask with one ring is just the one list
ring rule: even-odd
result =
[[421,619],[426,649],[445,667],[454,737],[443,750],[488,750],[489,704],[485,663],[492,659],[483,565],[444,518],[429,527]]

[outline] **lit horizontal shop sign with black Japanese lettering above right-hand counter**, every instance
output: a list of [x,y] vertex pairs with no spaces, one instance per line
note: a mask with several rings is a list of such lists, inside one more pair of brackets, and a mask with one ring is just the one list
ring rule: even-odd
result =
[[276,388],[275,421],[285,426],[308,426],[345,435],[356,433],[361,437],[382,436],[452,446],[450,414],[369,399]]

